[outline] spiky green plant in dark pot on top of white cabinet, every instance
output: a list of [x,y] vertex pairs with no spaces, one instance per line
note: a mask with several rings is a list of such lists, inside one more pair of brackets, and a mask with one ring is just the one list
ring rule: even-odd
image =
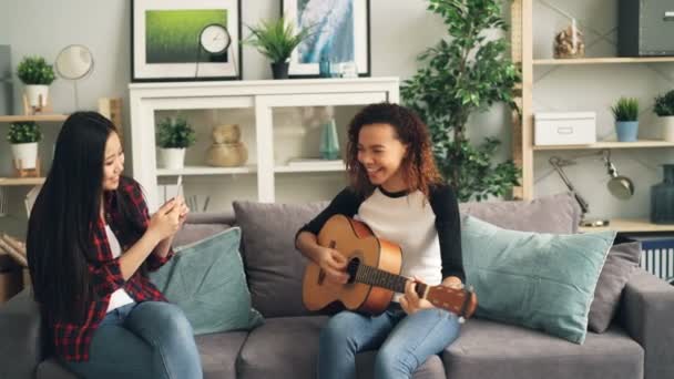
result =
[[290,54],[310,35],[310,28],[302,28],[295,32],[294,24],[282,17],[277,20],[263,20],[258,25],[248,29],[251,35],[244,42],[255,47],[272,61],[274,79],[287,79]]

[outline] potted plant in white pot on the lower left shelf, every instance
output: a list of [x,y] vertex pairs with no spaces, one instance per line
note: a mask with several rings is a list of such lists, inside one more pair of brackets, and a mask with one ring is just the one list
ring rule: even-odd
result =
[[42,140],[40,126],[32,121],[14,122],[9,125],[7,141],[11,144],[17,170],[35,168],[40,140]]

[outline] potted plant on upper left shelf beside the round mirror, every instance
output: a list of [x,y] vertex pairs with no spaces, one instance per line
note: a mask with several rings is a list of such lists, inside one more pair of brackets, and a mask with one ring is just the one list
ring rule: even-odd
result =
[[17,66],[17,76],[25,84],[28,104],[33,107],[47,105],[49,85],[54,81],[54,69],[44,58],[25,57]]

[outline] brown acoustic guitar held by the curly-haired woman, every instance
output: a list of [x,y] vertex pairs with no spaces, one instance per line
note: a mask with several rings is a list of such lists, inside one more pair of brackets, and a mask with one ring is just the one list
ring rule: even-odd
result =
[[[339,301],[349,310],[378,315],[386,310],[395,293],[405,293],[408,278],[400,275],[400,247],[377,238],[366,224],[344,215],[331,216],[318,233],[318,244],[347,258],[349,279],[344,285],[333,284],[318,265],[309,263],[302,287],[307,309],[320,310]],[[417,283],[416,291],[436,307],[463,318],[470,318],[478,305],[476,294],[467,288]]]

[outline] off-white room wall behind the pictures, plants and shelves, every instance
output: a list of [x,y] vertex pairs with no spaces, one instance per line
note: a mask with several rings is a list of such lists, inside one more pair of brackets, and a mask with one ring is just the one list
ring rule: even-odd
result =
[[[581,27],[590,25],[609,41],[585,29],[588,55],[615,53],[616,1],[548,0],[554,6],[578,16]],[[243,0],[243,21],[255,23],[261,18],[279,13],[278,0]],[[564,22],[558,12],[534,1],[534,55],[550,57],[554,31]],[[371,73],[375,76],[397,75],[407,79],[417,69],[416,55],[430,47],[445,33],[441,20],[430,14],[423,0],[371,0],[370,50]],[[95,59],[91,76],[79,83],[80,109],[95,109],[101,96],[121,96],[127,105],[126,85],[130,81],[130,1],[85,0],[0,0],[0,44],[12,48],[16,65],[25,54],[40,54],[53,61],[59,50],[71,43],[88,45]],[[244,28],[244,35],[247,35]],[[255,50],[244,48],[244,79],[269,79],[267,61]],[[657,70],[662,73],[656,73]],[[672,65],[612,65],[537,69],[534,105],[537,110],[593,110],[599,112],[599,135],[611,136],[612,121],[607,106],[621,94],[636,95],[649,106],[656,92],[672,86]],[[668,81],[664,78],[668,78]],[[17,85],[17,100],[20,85]],[[72,84],[58,80],[52,85],[54,109],[69,113],[75,110]],[[19,102],[17,102],[19,104]],[[18,112],[19,110],[17,110]],[[125,107],[125,123],[127,123]],[[646,109],[642,124],[653,124]],[[471,119],[471,135],[497,135],[503,142],[500,156],[510,156],[509,116],[502,106]],[[125,125],[127,127],[127,125]],[[0,133],[3,133],[0,131]],[[53,137],[53,135],[52,135]],[[0,139],[0,170],[9,170],[7,144]],[[49,142],[49,141],[47,141]],[[584,152],[568,152],[563,156],[578,156]],[[667,151],[623,151],[615,154],[622,174],[636,184],[636,195],[629,202],[619,202],[603,190],[606,176],[599,161],[584,158],[569,167],[568,174],[579,191],[591,203],[595,216],[647,216],[649,188],[662,177],[660,163],[671,160]],[[562,182],[547,164],[550,154],[537,154],[537,195],[564,191]],[[129,165],[131,166],[131,165]],[[4,174],[4,173],[0,173]],[[12,193],[23,190],[12,188]],[[19,193],[17,196],[20,196]],[[0,218],[0,227],[3,219]]]

